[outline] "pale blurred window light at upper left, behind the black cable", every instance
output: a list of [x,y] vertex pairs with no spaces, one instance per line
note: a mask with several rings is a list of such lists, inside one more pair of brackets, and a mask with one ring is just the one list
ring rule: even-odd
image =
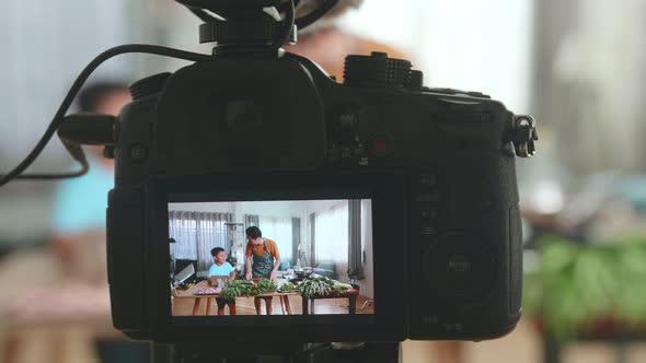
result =
[[[127,0],[3,0],[0,11],[0,171],[18,164],[45,132],[76,77],[105,48],[132,42]],[[96,78],[124,78],[128,63],[108,61]],[[69,164],[50,142],[34,169]]]

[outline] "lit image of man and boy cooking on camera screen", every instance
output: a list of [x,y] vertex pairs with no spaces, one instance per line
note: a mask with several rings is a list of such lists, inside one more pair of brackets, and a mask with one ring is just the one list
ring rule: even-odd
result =
[[374,314],[370,199],[170,202],[173,316]]

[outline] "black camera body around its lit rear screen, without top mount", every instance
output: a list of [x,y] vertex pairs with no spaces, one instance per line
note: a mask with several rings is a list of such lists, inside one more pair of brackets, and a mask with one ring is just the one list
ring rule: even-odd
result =
[[[515,116],[350,56],[344,83],[292,55],[214,57],[135,83],[107,209],[116,328],[155,341],[482,340],[520,318]],[[171,202],[370,199],[373,315],[172,314]],[[303,298],[304,301],[304,298]]]

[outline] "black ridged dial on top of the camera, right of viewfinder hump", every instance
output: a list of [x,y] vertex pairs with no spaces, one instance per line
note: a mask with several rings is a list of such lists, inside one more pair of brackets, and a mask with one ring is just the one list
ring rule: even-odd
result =
[[347,56],[344,84],[357,87],[409,87],[413,65],[404,59],[389,58],[385,52],[370,56]]

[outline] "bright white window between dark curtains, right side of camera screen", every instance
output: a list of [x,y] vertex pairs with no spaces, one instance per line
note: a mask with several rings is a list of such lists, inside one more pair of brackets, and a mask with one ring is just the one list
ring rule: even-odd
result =
[[[345,271],[348,264],[348,202],[316,212],[316,261],[335,262],[337,271]],[[344,267],[345,266],[345,267]]]

